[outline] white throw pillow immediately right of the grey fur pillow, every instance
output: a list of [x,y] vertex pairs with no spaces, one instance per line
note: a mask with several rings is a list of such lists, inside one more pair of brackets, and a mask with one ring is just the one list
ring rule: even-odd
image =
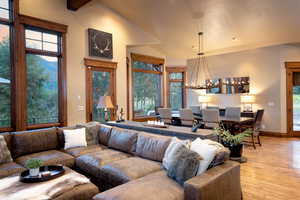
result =
[[197,172],[198,176],[208,169],[208,166],[217,154],[217,148],[213,145],[208,145],[200,138],[197,138],[191,143],[191,150],[197,152],[203,158],[199,164],[199,169]]

